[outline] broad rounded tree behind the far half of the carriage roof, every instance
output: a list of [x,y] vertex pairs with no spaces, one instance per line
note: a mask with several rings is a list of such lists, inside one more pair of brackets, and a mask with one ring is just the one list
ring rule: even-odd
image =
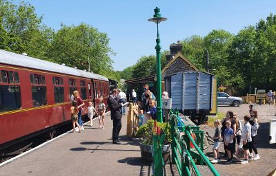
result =
[[108,76],[113,63],[109,55],[115,54],[108,43],[106,33],[85,23],[77,26],[61,25],[52,40],[48,57],[55,58],[56,63],[65,63],[78,69],[88,70],[90,63],[90,71]]

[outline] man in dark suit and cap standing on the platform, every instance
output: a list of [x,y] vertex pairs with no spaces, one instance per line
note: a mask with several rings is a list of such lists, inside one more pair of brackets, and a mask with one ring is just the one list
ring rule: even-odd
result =
[[108,107],[111,113],[111,120],[113,120],[112,141],[113,144],[121,144],[118,141],[118,135],[121,130],[121,112],[122,104],[117,102],[118,91],[112,89],[111,95],[108,97]]

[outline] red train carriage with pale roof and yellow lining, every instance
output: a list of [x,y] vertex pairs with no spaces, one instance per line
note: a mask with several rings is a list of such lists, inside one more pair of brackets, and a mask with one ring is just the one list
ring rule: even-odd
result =
[[72,92],[106,104],[108,78],[0,50],[0,149],[70,122]]

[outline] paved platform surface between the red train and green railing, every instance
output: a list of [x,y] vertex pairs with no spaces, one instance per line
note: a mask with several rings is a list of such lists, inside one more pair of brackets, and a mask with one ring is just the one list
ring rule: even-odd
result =
[[85,126],[81,133],[68,133],[32,153],[0,168],[0,175],[150,175],[141,161],[139,142],[126,136],[126,115],[119,136],[112,144],[112,121],[106,115],[106,129],[99,123]]

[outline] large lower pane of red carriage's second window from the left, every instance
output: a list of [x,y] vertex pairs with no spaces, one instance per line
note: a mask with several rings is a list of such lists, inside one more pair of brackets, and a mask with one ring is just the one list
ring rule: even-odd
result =
[[32,86],[32,102],[34,107],[47,104],[46,86]]

